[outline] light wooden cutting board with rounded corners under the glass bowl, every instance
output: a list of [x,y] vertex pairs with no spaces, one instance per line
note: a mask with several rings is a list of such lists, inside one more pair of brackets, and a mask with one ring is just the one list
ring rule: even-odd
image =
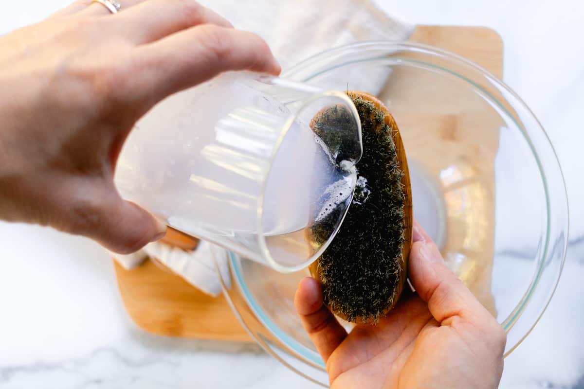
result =
[[[454,52],[502,77],[503,42],[491,29],[418,26],[411,41]],[[223,296],[207,296],[152,261],[131,271],[114,265],[124,306],[142,330],[172,337],[252,342]]]

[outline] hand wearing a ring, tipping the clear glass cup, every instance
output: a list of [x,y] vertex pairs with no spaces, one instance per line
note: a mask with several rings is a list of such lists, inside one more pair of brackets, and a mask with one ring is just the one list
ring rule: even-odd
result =
[[194,1],[121,5],[111,15],[78,1],[0,37],[0,219],[130,253],[166,230],[113,184],[135,122],[220,72],[280,66],[262,39]]

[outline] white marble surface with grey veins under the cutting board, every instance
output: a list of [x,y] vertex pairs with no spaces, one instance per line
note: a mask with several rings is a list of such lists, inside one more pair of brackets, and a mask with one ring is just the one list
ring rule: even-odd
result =
[[[2,4],[0,33],[67,0]],[[584,388],[584,3],[424,0],[381,6],[415,23],[483,25],[505,41],[504,80],[547,129],[564,169],[571,247],[547,313],[506,359],[502,388]],[[0,223],[0,388],[309,388],[255,346],[144,334],[121,306],[111,261],[85,239]]]

